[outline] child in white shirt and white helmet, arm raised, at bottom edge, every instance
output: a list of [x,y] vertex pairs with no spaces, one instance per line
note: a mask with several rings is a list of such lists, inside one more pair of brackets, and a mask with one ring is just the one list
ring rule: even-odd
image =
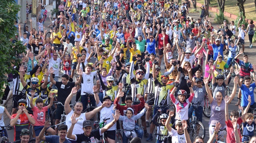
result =
[[[186,143],[184,132],[187,132],[187,128],[183,128],[183,122],[181,120],[176,120],[175,128],[177,130],[173,129],[169,124],[173,115],[173,111],[170,111],[169,116],[165,122],[168,133],[172,136],[172,143]],[[184,121],[184,124],[186,124],[186,121]]]

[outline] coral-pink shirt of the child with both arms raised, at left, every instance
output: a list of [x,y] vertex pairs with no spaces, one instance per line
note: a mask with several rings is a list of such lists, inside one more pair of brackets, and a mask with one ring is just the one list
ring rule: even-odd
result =
[[39,110],[36,106],[34,106],[33,110],[33,118],[36,121],[34,126],[44,126],[45,125],[45,112],[47,111],[47,106],[43,107],[42,110]]

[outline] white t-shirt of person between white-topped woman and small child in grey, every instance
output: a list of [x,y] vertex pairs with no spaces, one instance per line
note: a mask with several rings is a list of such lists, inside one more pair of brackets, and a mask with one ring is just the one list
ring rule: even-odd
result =
[[[97,107],[99,107],[101,105],[102,105],[102,103],[99,102],[99,104],[97,104]],[[111,105],[109,108],[107,108],[107,107],[102,108],[102,110],[100,110],[100,123],[103,122],[103,119],[107,119],[107,118],[110,118],[110,119],[107,120],[106,124],[111,123],[114,120],[112,113],[114,113],[113,105]],[[108,131],[113,131],[113,130],[116,130],[116,124],[114,124],[114,126],[112,126],[111,128],[108,129]]]

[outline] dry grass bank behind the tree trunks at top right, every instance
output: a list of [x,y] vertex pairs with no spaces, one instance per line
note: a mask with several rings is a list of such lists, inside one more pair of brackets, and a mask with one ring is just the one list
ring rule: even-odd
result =
[[[197,2],[204,4],[204,0],[197,0]],[[218,7],[217,0],[211,0],[210,2],[210,7]],[[256,19],[254,0],[247,0],[246,2],[244,2],[244,11],[247,19]],[[238,15],[239,8],[237,6],[237,0],[226,0],[225,12]]]

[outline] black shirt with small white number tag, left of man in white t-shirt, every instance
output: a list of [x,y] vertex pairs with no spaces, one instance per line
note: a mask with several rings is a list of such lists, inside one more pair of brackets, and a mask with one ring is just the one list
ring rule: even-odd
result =
[[66,98],[71,93],[72,88],[75,87],[75,82],[68,82],[66,85],[62,84],[62,82],[56,82],[55,86],[58,88],[57,100],[64,105]]

